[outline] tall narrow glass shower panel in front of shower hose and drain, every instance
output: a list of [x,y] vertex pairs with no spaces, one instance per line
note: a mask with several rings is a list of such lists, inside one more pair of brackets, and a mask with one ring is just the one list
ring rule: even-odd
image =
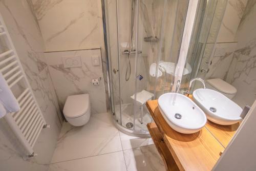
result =
[[127,129],[134,129],[133,95],[135,92],[136,68],[136,20],[137,1],[118,0],[118,48],[121,123]]

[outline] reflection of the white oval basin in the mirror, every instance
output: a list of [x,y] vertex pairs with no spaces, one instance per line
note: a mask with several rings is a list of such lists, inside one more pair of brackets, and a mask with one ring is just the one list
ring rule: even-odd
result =
[[193,99],[212,122],[231,125],[242,120],[242,108],[217,91],[197,89],[193,92]]

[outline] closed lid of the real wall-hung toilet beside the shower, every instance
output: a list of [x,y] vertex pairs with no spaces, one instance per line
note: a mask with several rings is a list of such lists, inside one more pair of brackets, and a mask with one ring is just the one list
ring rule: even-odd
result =
[[77,118],[88,111],[89,105],[89,94],[68,96],[63,114],[68,118]]

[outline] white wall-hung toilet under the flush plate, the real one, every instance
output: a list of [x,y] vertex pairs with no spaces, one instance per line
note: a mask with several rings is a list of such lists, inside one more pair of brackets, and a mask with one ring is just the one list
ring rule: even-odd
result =
[[68,96],[63,114],[67,121],[74,126],[86,124],[91,116],[89,94]]

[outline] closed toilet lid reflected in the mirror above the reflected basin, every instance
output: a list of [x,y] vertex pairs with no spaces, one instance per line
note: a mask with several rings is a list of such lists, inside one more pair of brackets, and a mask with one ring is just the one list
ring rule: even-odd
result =
[[226,94],[236,94],[237,89],[220,78],[208,79],[207,82],[218,91]]

